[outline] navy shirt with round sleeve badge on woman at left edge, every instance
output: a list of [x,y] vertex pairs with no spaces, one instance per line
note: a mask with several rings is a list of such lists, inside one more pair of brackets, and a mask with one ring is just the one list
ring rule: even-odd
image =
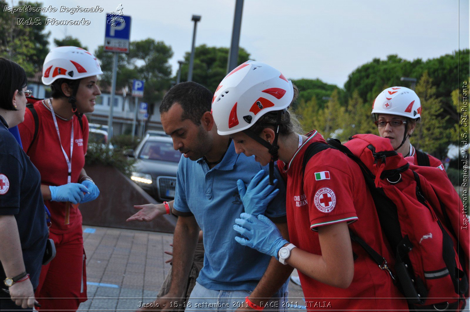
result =
[[[14,215],[16,218],[24,266],[30,274],[33,288],[36,288],[48,236],[41,178],[23,148],[8,132],[6,122],[1,116],[0,215]],[[0,287],[5,288],[2,282],[5,278],[3,266],[0,264]]]

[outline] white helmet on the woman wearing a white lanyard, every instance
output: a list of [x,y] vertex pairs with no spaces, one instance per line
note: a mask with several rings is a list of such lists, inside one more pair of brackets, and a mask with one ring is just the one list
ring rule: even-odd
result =
[[42,83],[51,85],[59,78],[81,79],[102,75],[100,64],[93,54],[81,47],[55,47],[42,66]]

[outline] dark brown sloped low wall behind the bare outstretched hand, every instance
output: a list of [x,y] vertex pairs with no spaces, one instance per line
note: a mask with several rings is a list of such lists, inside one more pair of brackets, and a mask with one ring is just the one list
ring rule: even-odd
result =
[[92,202],[80,204],[84,225],[174,232],[177,218],[173,215],[161,216],[151,222],[125,221],[137,212],[133,205],[158,202],[116,168],[93,165],[85,166],[85,170],[100,188],[100,196]]

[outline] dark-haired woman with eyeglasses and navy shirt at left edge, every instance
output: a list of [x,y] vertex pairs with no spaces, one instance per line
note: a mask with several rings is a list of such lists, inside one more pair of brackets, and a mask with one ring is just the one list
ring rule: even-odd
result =
[[0,58],[0,307],[31,310],[37,302],[47,240],[41,178],[14,135],[24,119],[26,73]]

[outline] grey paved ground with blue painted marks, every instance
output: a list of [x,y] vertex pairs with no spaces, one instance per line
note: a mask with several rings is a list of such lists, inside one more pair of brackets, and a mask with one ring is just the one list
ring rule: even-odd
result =
[[[135,311],[156,298],[170,264],[172,234],[84,226],[88,300],[78,311]],[[303,293],[290,282],[290,301],[301,306]],[[298,310],[298,308],[294,308]]]

